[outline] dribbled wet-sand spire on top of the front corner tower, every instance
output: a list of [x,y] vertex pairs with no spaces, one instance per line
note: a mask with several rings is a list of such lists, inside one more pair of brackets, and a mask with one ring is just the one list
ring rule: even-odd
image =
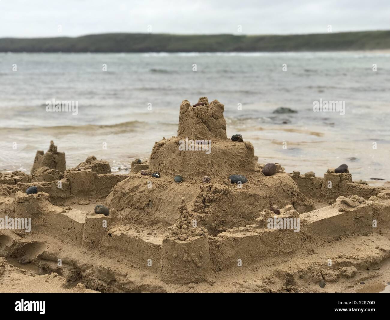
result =
[[173,238],[181,241],[190,241],[193,237],[206,236],[207,230],[204,227],[193,227],[193,221],[188,212],[185,198],[181,198],[181,204],[177,207],[180,212],[176,223],[171,227],[171,231],[165,235],[165,238]]

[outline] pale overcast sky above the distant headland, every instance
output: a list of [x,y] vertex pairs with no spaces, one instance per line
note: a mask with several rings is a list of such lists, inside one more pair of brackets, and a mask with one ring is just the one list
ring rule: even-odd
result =
[[0,38],[239,34],[238,25],[241,34],[388,30],[390,0],[0,0]]

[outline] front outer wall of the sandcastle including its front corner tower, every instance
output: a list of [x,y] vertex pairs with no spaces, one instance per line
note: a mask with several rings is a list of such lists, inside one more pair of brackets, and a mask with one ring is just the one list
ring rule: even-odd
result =
[[[13,218],[31,218],[31,232],[0,229],[0,251],[10,248],[9,243],[14,238],[9,232],[18,234],[23,241],[49,234],[87,252],[105,252],[113,260],[121,257],[132,267],[156,274],[167,283],[202,282],[207,281],[213,272],[250,266],[271,256],[326,245],[351,235],[369,235],[390,227],[387,193],[373,197],[373,200],[360,198],[361,203],[351,207],[349,204],[354,199],[341,196],[331,206],[300,215],[295,213],[300,218],[298,232],[267,229],[264,224],[257,223],[232,228],[217,236],[180,241],[125,227],[115,211],[110,216],[103,216],[73,208],[64,210],[52,205],[47,193],[26,195],[17,192],[15,199],[0,199],[0,218],[9,214]],[[374,226],[373,222],[377,225]],[[50,256],[50,250],[44,250]],[[51,259],[55,261],[55,257]]]

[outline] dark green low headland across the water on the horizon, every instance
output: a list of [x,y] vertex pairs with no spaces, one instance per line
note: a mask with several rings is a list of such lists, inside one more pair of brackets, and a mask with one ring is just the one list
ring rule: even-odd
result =
[[0,52],[286,52],[390,49],[390,30],[296,35],[111,33],[1,38]]

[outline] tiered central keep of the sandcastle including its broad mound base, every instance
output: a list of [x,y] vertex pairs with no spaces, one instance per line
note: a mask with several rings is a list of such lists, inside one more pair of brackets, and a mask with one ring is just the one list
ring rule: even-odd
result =
[[[131,173],[113,188],[107,205],[129,223],[166,228],[176,222],[176,208],[185,197],[193,219],[210,234],[247,225],[270,205],[314,209],[283,168],[278,165],[275,174],[265,176],[254,161],[252,143],[227,138],[223,110],[217,100],[200,98],[194,105],[184,100],[177,136],[154,144],[149,175]],[[176,175],[183,182],[176,183]],[[244,175],[247,182],[230,183],[230,175]],[[211,181],[203,182],[204,176]]]

